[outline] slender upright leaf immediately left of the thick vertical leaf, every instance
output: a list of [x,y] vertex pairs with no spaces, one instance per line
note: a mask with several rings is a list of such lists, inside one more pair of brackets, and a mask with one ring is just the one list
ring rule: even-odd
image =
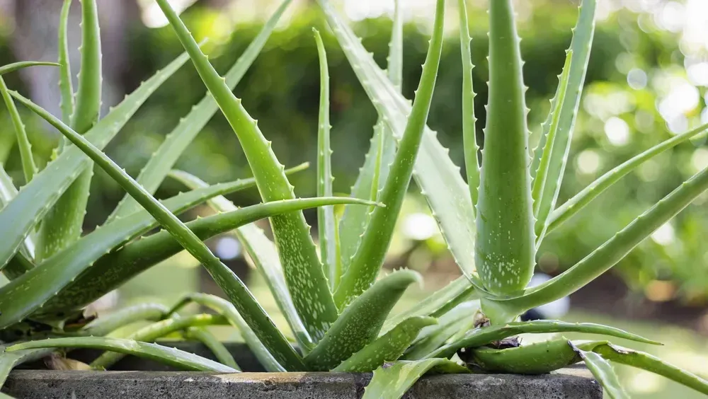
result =
[[[467,21],[467,2],[457,2],[459,14],[459,48],[462,54],[462,142],[464,146],[464,168],[467,171],[467,185],[472,205],[476,205],[479,190],[479,145],[477,145],[474,125],[477,118],[474,116],[474,87],[472,86],[472,50],[469,43],[469,22]],[[473,207],[474,211],[474,207]]]

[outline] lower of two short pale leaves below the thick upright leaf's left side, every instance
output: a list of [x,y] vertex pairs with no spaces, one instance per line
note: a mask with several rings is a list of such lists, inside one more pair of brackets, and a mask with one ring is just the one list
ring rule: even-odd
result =
[[464,334],[474,327],[474,315],[479,310],[479,301],[461,303],[438,318],[438,325],[430,326],[411,342],[402,359],[418,360],[445,345],[452,337]]

